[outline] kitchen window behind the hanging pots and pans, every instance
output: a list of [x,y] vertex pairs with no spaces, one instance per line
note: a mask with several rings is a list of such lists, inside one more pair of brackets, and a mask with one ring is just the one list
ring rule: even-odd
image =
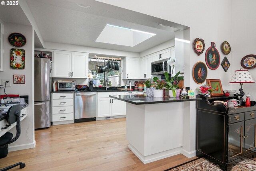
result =
[[[108,87],[120,87],[121,75],[118,71],[111,69],[108,69],[108,71],[104,73],[97,73],[95,71],[95,65],[104,66],[108,61],[112,60],[89,58],[89,78],[93,80],[94,87],[106,87],[106,83]],[[118,61],[118,63],[120,64],[121,61]]]

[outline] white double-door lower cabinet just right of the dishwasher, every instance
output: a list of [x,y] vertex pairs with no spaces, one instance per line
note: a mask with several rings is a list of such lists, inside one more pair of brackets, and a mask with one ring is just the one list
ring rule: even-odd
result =
[[97,117],[126,115],[126,102],[108,97],[123,94],[124,92],[98,92]]

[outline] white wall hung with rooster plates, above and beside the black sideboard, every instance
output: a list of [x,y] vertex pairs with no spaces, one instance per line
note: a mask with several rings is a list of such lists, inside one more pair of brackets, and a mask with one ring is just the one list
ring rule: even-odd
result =
[[[190,27],[190,37],[189,40],[190,48],[184,50],[184,83],[185,86],[190,86],[192,90],[195,90],[200,85],[196,84],[192,78],[192,68],[198,61],[203,61],[205,63],[204,55],[206,49],[210,47],[211,41],[216,43],[216,47],[220,53],[220,61],[225,57],[221,52],[220,46],[223,41],[231,42],[231,0],[215,0],[215,1],[188,1],[188,0],[161,0],[156,3],[155,0],[97,0],[99,2],[104,2],[114,6],[119,6],[126,8],[128,10],[133,10],[184,26]],[[237,0],[236,0],[237,1]],[[252,0],[251,0],[252,1]],[[242,2],[240,2],[242,3]],[[240,4],[242,6],[242,4]],[[255,6],[255,5],[254,5]],[[253,7],[253,6],[252,6]],[[242,10],[241,10],[242,11]],[[242,12],[248,11],[244,9]],[[241,15],[242,15],[241,12]],[[233,17],[232,17],[233,18]],[[252,20],[254,21],[254,20]],[[237,24],[237,23],[236,23]],[[189,35],[189,34],[188,34]],[[193,41],[197,37],[204,39],[205,51],[199,57],[194,52]],[[241,41],[240,41],[241,42]],[[187,45],[184,44],[184,47]],[[231,44],[232,48],[232,44]],[[188,53],[188,51],[190,51]],[[232,85],[229,81],[233,74],[233,61],[232,54],[226,55],[231,63],[230,69],[225,73],[221,66],[216,70],[208,69],[208,79],[220,79],[222,81],[223,89],[231,88]],[[188,59],[190,63],[186,61]],[[184,149],[185,155],[188,157],[193,156],[196,147],[196,106],[194,102],[190,102],[189,113],[184,113],[184,120],[186,120],[186,125],[184,125]],[[189,142],[189,143],[185,143]]]

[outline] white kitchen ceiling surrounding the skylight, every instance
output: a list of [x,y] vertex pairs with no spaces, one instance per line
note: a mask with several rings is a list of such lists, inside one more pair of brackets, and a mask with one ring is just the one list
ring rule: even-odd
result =
[[[159,26],[157,22],[149,21],[146,17],[145,20],[136,18],[130,15],[132,13],[125,13],[124,10],[122,12],[122,9],[119,13],[116,11],[118,7],[94,0],[79,3],[84,6],[90,5],[90,8],[79,7],[74,1],[76,0],[26,0],[44,41],[142,52],[174,39],[174,31],[178,30]],[[6,14],[0,8],[0,14],[2,13]],[[6,20],[8,20],[7,16]],[[27,24],[26,21],[24,23]],[[156,35],[134,47],[96,42],[106,24],[156,33]],[[35,44],[40,43],[35,42]]]

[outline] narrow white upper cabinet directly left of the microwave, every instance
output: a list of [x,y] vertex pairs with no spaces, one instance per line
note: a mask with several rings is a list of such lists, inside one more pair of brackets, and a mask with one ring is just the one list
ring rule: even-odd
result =
[[151,77],[152,55],[140,58],[140,79]]

